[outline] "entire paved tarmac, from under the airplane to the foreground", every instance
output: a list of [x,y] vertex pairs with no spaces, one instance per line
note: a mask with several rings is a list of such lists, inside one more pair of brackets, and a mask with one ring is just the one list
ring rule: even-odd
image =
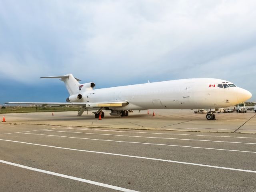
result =
[[152,112],[5,114],[0,191],[256,192],[256,113]]

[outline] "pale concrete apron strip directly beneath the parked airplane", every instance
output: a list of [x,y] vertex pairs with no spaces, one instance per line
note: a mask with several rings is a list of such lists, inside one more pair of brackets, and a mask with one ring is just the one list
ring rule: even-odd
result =
[[206,114],[194,114],[194,110],[134,111],[128,117],[110,116],[105,111],[102,120],[94,118],[92,111],[82,116],[77,112],[40,112],[3,114],[6,123],[41,124],[101,128],[125,128],[144,130],[179,130],[199,132],[256,133],[256,113],[216,113],[217,120],[206,120]]

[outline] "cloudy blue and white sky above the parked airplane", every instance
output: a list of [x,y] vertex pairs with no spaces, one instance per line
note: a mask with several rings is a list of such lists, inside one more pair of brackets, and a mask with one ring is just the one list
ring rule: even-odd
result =
[[220,78],[256,101],[254,0],[0,0],[0,104],[96,88]]

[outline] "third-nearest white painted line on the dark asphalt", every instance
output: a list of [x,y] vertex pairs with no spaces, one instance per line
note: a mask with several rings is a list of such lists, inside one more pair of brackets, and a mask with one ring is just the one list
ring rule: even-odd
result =
[[68,136],[60,136],[60,135],[46,135],[46,134],[35,134],[35,133],[21,133],[21,134],[42,135],[42,136],[54,136],[54,137],[64,137],[64,138],[73,138],[73,139],[95,140],[95,141],[108,141],[108,142],[120,142],[120,143],[134,143],[134,144],[146,144],[146,145],[160,145],[160,146],[187,147],[187,148],[198,148],[198,149],[210,149],[210,150],[222,150],[222,151],[233,151],[233,152],[256,153],[256,152],[254,152],[254,151],[241,151],[241,150],[231,150],[231,149],[193,147],[193,146],[184,146],[184,145],[170,145],[170,144],[142,143],[142,142],[116,141],[116,140],[105,140],[105,139],[91,139],[91,138],[68,137]]

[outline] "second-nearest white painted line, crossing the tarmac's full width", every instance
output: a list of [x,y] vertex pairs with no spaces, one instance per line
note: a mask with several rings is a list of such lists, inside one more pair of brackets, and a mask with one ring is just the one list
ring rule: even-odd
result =
[[5,139],[0,139],[0,140],[1,140],[1,141],[8,141],[8,142],[16,142],[16,143],[30,144],[30,145],[36,145],[36,146],[44,146],[44,147],[58,148],[58,149],[66,149],[66,150],[81,151],[81,152],[89,152],[89,153],[97,153],[97,154],[106,154],[106,155],[114,155],[114,156],[122,156],[122,157],[132,157],[132,158],[139,158],[139,159],[156,160],[156,161],[172,162],[172,163],[179,163],[179,164],[186,164],[186,165],[195,165],[195,166],[202,166],[202,167],[211,167],[211,168],[218,168],[218,169],[226,169],[226,170],[234,170],[234,171],[242,171],[242,172],[256,173],[256,171],[253,171],[253,170],[246,170],[246,169],[236,169],[236,168],[229,168],[229,167],[212,166],[212,165],[197,164],[197,163],[189,163],[189,162],[181,162],[181,161],[173,161],[173,160],[166,160],[166,159],[157,159],[157,158],[142,157],[142,156],[132,156],[132,155],[124,155],[124,154],[115,154],[115,153],[99,152],[99,151],[89,151],[89,150],[81,150],[81,149],[72,149],[72,148],[57,147],[57,146],[50,146],[50,145],[42,145],[42,144],[36,144],[36,143],[27,143],[27,142],[21,142],[21,141],[5,140]]

